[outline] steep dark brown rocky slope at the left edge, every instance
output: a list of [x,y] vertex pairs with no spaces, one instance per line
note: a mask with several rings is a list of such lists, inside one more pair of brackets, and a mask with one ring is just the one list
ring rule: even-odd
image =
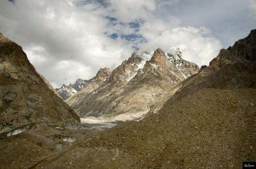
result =
[[0,129],[27,123],[80,122],[29,62],[22,47],[0,34]]

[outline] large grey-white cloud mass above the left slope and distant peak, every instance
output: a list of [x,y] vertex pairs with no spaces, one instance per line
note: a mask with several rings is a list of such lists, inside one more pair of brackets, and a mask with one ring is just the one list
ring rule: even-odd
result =
[[0,30],[23,46],[54,87],[67,79],[92,78],[100,67],[113,68],[132,52],[131,45],[104,34],[108,20],[97,5],[76,7],[71,1],[44,0],[1,1],[0,6]]

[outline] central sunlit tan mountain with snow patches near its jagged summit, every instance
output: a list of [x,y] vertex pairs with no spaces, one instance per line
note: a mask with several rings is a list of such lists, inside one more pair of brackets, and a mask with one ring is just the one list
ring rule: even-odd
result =
[[135,50],[132,56],[111,71],[100,69],[84,88],[66,102],[80,117],[96,116],[108,120],[133,120],[143,117],[168,90],[199,67],[161,49],[154,52]]

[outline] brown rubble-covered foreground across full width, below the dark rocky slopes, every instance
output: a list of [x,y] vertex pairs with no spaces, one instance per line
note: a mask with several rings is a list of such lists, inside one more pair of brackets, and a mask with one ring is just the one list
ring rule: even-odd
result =
[[[0,166],[241,168],[242,161],[256,161],[255,95],[251,88],[202,89],[179,101],[169,100],[157,114],[139,122],[104,132],[37,126],[0,141]],[[52,134],[78,141],[50,140]]]

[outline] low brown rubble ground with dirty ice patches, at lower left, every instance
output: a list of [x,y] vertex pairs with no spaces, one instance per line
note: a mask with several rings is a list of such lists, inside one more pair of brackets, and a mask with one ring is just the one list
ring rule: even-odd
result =
[[0,168],[33,168],[99,132],[86,126],[61,128],[31,123],[29,130],[20,134],[9,137],[0,134]]

